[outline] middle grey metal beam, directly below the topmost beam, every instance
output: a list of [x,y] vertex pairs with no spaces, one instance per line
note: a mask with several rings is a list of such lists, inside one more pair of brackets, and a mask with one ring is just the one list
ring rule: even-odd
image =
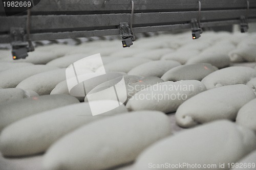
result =
[[[214,10],[202,11],[201,21],[238,19],[246,15],[246,10]],[[129,22],[131,14],[102,14],[102,15],[36,15],[31,16],[31,33],[59,32],[59,31],[89,31],[94,29],[105,30],[117,27],[120,22]],[[197,18],[197,11],[185,12],[159,12],[134,14],[134,27],[166,25],[173,23],[189,22],[191,18]],[[248,12],[249,18],[256,18],[256,9]],[[26,27],[26,16],[0,17],[3,25],[0,32],[8,32],[13,23],[16,26]]]

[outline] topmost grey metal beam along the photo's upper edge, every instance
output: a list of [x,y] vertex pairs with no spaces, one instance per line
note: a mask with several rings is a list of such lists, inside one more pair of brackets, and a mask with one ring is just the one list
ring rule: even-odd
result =
[[[216,9],[242,9],[247,8],[246,0],[201,0],[202,10]],[[164,11],[189,11],[198,9],[198,0],[134,0],[135,13],[142,11],[157,10]],[[0,13],[4,12],[0,4]],[[256,1],[250,0],[250,8],[256,8]],[[32,13],[37,14],[79,14],[94,13],[99,11],[109,13],[127,12],[131,10],[131,0],[41,0],[32,8]]]

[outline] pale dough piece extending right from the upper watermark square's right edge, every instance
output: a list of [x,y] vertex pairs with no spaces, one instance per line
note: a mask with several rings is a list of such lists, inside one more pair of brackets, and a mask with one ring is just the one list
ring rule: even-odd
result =
[[129,57],[105,64],[103,67],[99,67],[98,70],[105,69],[105,71],[129,72],[134,67],[150,61],[152,60],[146,58]]

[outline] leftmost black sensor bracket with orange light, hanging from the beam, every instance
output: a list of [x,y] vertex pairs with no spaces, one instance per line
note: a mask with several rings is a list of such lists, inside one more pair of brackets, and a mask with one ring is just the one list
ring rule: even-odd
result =
[[13,60],[26,58],[28,56],[29,42],[25,41],[25,31],[23,28],[12,27],[10,29],[11,36],[13,37],[12,45],[12,58]]

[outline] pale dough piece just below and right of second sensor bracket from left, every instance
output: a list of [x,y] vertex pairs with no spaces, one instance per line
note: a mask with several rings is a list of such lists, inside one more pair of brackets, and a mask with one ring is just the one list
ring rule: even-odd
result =
[[135,54],[133,57],[147,58],[147,59],[151,59],[151,60],[160,60],[160,58],[163,55],[165,55],[167,53],[172,53],[172,52],[173,52],[173,50],[170,48],[158,48],[158,49],[149,50],[149,51]]

